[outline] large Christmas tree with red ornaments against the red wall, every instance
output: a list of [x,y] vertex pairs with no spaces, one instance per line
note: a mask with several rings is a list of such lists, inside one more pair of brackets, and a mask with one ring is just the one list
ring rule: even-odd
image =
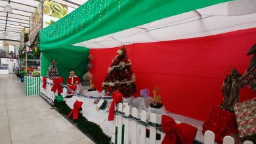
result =
[[136,92],[135,75],[131,71],[131,61],[127,57],[125,46],[117,50],[116,57],[108,68],[108,75],[102,83],[106,95],[113,94],[119,90],[124,98],[129,98]]

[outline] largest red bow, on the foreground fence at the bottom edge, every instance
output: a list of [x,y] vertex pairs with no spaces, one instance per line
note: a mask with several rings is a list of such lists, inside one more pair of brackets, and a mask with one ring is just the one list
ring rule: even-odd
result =
[[198,131],[198,128],[186,123],[176,124],[173,118],[166,115],[161,117],[161,126],[166,134],[162,141],[163,144],[191,144]]

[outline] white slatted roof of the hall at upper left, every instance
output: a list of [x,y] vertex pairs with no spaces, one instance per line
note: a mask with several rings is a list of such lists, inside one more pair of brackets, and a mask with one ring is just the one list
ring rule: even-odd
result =
[[[87,0],[52,0],[76,9]],[[11,0],[12,13],[3,12],[8,0],[0,0],[0,39],[20,41],[20,33],[29,27],[30,16],[39,5],[40,0]],[[21,23],[21,26],[19,26]],[[7,31],[7,36],[3,32]]]

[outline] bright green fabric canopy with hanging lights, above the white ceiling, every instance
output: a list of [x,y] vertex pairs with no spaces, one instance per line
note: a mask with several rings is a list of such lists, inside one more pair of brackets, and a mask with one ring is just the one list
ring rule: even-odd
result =
[[42,29],[40,48],[72,45],[226,1],[230,0],[89,0]]

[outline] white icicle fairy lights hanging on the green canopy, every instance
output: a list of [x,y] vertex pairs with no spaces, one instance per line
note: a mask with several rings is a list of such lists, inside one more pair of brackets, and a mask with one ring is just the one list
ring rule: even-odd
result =
[[[134,0],[131,0],[131,1],[132,3],[134,3]],[[118,3],[118,10],[120,11],[121,0],[119,0],[117,3]],[[95,9],[95,5],[96,5],[96,9]],[[104,9],[102,9],[102,7],[104,7]],[[47,27],[47,30],[41,33],[41,36],[43,37],[42,43],[56,41],[56,39],[62,39],[74,32],[77,33],[79,29],[83,29],[84,27],[83,24],[85,20],[87,20],[88,16],[89,18],[91,18],[91,23],[93,23],[94,14],[98,14],[98,20],[101,20],[103,16],[102,10],[106,11],[104,12],[106,15],[105,19],[108,18],[109,7],[110,7],[110,0],[108,1],[107,0],[100,0],[100,1],[89,0],[87,3],[85,3],[84,5],[81,5],[81,7],[76,9],[76,12],[77,12],[76,14],[79,14],[80,16],[74,16],[75,12],[72,12],[71,14],[68,14],[64,18],[61,18],[60,20],[58,20],[58,22],[56,22],[57,24],[53,24],[54,26]],[[86,14],[86,18],[84,16],[85,14]],[[79,18],[81,18],[82,20],[79,21]],[[63,27],[63,29],[60,29],[59,27]]]

